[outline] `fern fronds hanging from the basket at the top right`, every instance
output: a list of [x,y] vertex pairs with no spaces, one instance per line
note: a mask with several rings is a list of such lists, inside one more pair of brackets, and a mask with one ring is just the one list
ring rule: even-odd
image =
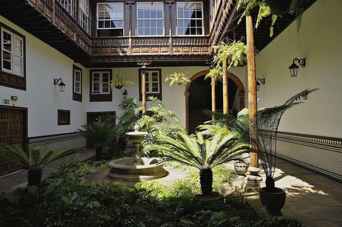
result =
[[[290,9],[288,13],[294,14],[297,21],[297,33],[299,34],[300,26],[302,24],[302,17],[304,12],[304,2],[309,2],[310,0],[292,0]],[[267,4],[267,0],[239,0],[237,10],[244,8],[244,12],[242,13],[238,24],[245,18],[247,13],[252,12],[252,9],[259,6],[259,13],[257,22],[255,23],[255,28],[258,28],[261,20],[269,15],[272,15],[272,24],[270,27],[269,37],[273,36],[273,26],[279,15],[274,15]]]

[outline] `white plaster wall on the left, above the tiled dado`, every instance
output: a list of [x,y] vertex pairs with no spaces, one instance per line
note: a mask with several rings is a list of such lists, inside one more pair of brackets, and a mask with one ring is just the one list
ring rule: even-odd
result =
[[[26,37],[26,91],[0,86],[0,104],[9,99],[11,106],[28,108],[28,137],[75,131],[86,122],[87,87],[82,84],[83,102],[72,100],[74,61],[4,17],[0,21]],[[75,65],[82,69],[84,81],[87,70]],[[53,84],[60,77],[66,84],[64,92]],[[70,110],[70,125],[57,125],[57,109]]]

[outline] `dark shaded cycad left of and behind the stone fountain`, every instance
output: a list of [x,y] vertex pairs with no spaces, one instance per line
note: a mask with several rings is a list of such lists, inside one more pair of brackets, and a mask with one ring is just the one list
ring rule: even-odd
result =
[[81,127],[83,129],[77,129],[77,132],[86,137],[91,143],[95,144],[96,161],[101,161],[103,148],[110,142],[110,139],[114,137],[115,128],[113,128],[112,124],[106,122],[98,124],[95,121],[92,125],[84,124],[81,125]]

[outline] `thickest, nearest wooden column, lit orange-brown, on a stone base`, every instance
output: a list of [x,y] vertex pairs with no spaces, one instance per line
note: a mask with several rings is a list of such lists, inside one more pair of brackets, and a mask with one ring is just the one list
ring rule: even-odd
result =
[[[255,52],[252,16],[246,15],[246,34],[247,34],[247,74],[248,74],[248,110],[249,116],[253,116],[258,111],[257,106],[257,80],[255,75]],[[254,139],[257,139],[256,136]],[[250,153],[250,166],[259,167],[258,156]]]

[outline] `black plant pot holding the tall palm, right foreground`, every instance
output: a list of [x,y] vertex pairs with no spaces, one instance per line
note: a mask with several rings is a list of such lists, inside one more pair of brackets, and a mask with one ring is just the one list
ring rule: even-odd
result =
[[270,214],[281,216],[281,208],[284,207],[286,192],[282,188],[275,188],[275,192],[266,191],[266,187],[259,190],[261,203]]

